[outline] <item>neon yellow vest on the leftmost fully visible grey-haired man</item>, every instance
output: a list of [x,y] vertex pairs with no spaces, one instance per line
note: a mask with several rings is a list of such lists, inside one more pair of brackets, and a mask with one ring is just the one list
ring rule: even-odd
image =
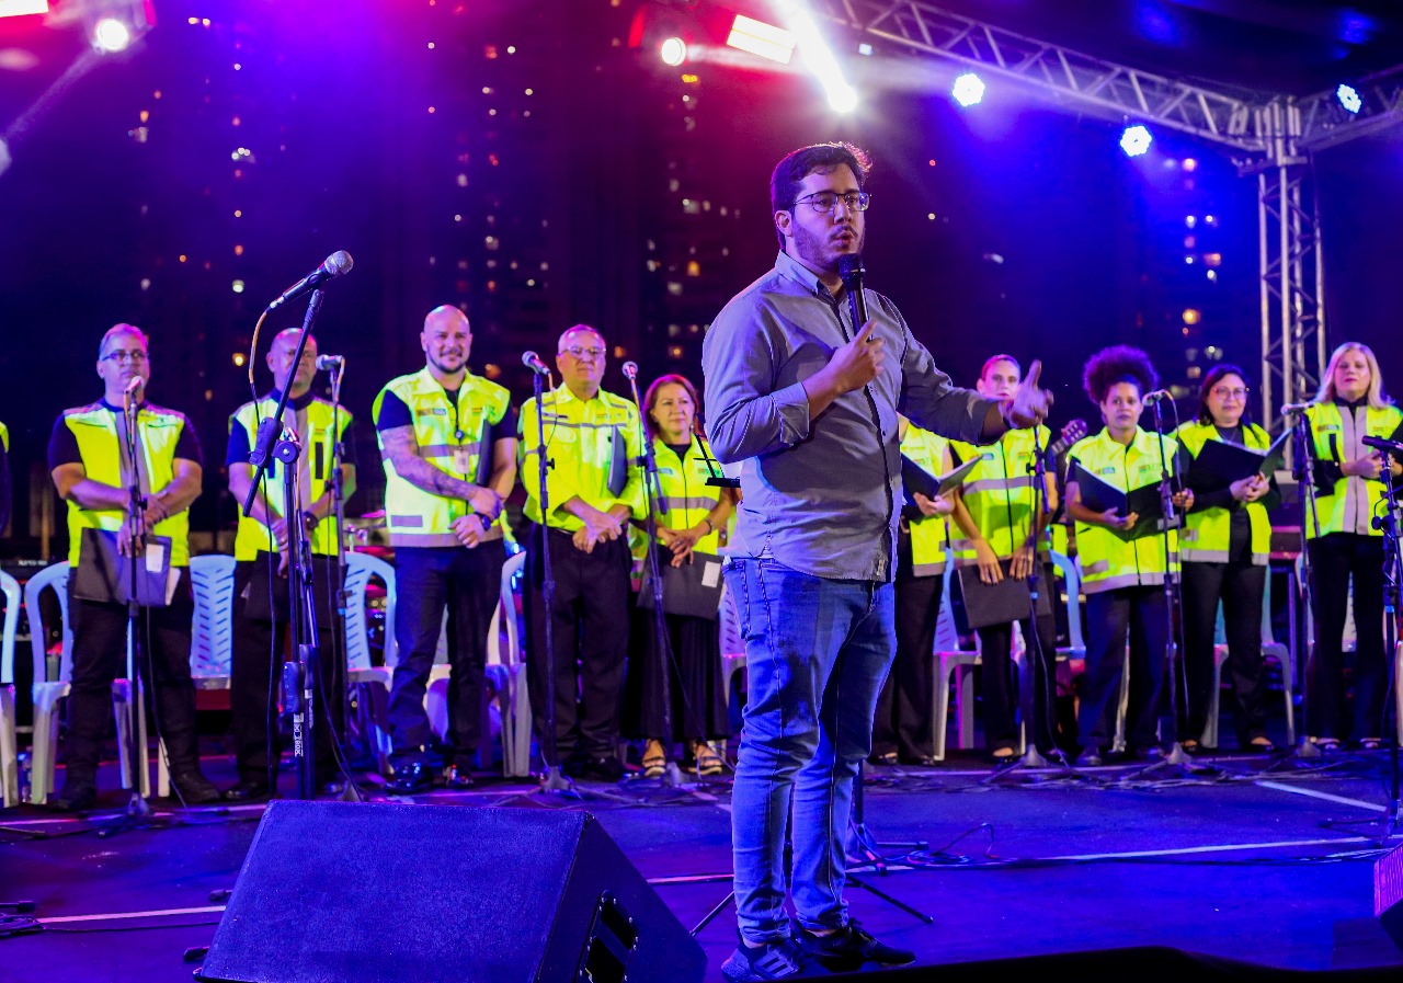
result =
[[[72,431],[83,456],[83,471],[93,481],[122,487],[122,452],[118,447],[116,414],[94,402],[63,411],[63,423]],[[175,477],[175,445],[189,426],[184,414],[146,404],[136,415],[142,461],[152,494],[160,492]],[[116,531],[126,519],[125,509],[84,509],[69,499],[69,564],[79,562],[84,529]],[[156,523],[150,530],[171,540],[171,567],[189,567],[189,510]]]

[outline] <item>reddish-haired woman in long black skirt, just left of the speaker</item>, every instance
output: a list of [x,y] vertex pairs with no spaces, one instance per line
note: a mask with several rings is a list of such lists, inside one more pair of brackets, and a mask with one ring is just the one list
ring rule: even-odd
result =
[[[714,459],[697,429],[697,391],[683,376],[661,376],[643,398],[644,426],[652,440],[658,464],[658,485],[666,510],[654,513],[659,564],[717,562],[718,531],[725,529],[734,510],[730,488],[707,484]],[[647,571],[647,565],[644,567]],[[700,569],[700,568],[699,568]],[[704,572],[704,571],[703,571]],[[720,574],[720,565],[717,565]],[[720,583],[720,581],[717,581]],[[643,590],[651,592],[648,583]],[[640,595],[641,600],[641,595]],[[651,593],[648,600],[651,602]],[[624,705],[637,717],[630,729],[645,738],[643,773],[659,778],[675,739],[687,743],[699,775],[718,775],[725,761],[709,743],[730,732],[725,691],[721,679],[721,638],[716,617],[664,614],[671,649],[669,686],[672,697],[672,733],[664,735],[662,677],[652,610],[641,603],[633,635],[643,645],[634,646],[637,658],[629,659]],[[641,651],[640,651],[641,649]]]

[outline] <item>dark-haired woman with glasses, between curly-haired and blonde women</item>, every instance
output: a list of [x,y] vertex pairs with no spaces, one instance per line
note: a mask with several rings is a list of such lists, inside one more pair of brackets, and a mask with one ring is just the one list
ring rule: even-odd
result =
[[[1228,635],[1237,746],[1270,752],[1263,704],[1266,673],[1261,656],[1261,606],[1267,592],[1271,520],[1267,495],[1273,485],[1260,471],[1243,475],[1251,459],[1239,461],[1211,453],[1209,442],[1235,445],[1264,456],[1267,432],[1247,419],[1247,373],[1216,365],[1204,377],[1198,418],[1179,428],[1186,484],[1194,508],[1180,536],[1184,561],[1184,679],[1188,714],[1183,747],[1198,750],[1214,690],[1214,632],[1218,603]],[[1205,452],[1207,449],[1207,452]],[[1263,457],[1266,464],[1266,457]]]

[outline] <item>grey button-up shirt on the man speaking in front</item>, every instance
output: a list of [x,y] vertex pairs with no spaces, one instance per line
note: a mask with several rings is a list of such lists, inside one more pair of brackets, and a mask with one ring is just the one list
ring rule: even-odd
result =
[[884,583],[895,569],[901,509],[897,412],[967,443],[989,443],[995,405],[950,384],[887,297],[864,292],[882,370],[810,418],[803,380],[854,332],[846,293],[833,297],[811,271],[780,252],[774,269],[738,293],[702,348],[706,429],[723,463],[741,473],[731,555],[773,557],[804,574]]

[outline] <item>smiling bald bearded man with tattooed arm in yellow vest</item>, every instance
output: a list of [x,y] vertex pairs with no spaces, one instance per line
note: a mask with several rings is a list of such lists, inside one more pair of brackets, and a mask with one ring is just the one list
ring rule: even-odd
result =
[[506,562],[502,499],[516,480],[511,394],[467,369],[473,332],[448,304],[424,318],[427,365],[391,379],[370,409],[384,460],[384,516],[394,547],[394,644],[386,789],[414,795],[434,784],[434,732],[424,710],[448,611],[449,788],[473,784],[481,729],[487,625]]

